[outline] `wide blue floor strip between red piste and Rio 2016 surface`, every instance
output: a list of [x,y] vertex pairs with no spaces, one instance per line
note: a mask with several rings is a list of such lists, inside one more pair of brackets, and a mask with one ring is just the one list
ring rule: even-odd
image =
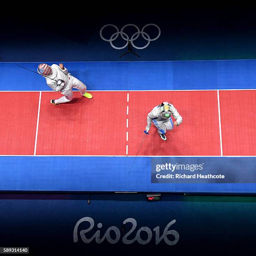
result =
[[[90,162],[90,167],[86,163]],[[3,191],[109,191],[255,194],[255,158],[1,156]],[[65,162],[65,166],[62,163]],[[158,174],[224,175],[223,179],[156,179],[155,164],[204,164],[202,171]],[[28,168],[29,166],[29,168]],[[53,167],[54,166],[54,167]],[[57,166],[57,167],[56,167]],[[59,166],[62,166],[59,168]],[[223,168],[223,166],[225,166]]]

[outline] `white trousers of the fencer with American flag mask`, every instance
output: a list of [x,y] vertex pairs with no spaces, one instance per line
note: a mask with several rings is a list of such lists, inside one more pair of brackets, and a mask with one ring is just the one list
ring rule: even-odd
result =
[[[61,90],[61,94],[63,94],[64,96],[59,98],[58,100],[55,100],[55,103],[65,103],[65,102],[69,102],[71,100],[73,100],[73,92],[72,92],[72,88],[76,88],[80,91],[81,95],[83,95],[85,93],[85,91],[87,90],[86,85],[81,82],[80,80],[78,80],[77,78],[70,76],[70,80],[71,83],[73,84],[71,88],[69,89],[62,89]],[[70,86],[69,86],[70,87]]]

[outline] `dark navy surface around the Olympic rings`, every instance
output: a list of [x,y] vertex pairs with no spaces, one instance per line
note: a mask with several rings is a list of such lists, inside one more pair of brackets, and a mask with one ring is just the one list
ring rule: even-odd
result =
[[[63,5],[34,11],[3,13],[1,16],[1,61],[166,61],[205,59],[256,59],[256,11],[253,7],[127,5]],[[60,9],[61,8],[61,9]],[[62,9],[63,8],[63,9]],[[69,9],[69,10],[68,10]],[[114,24],[119,30],[133,23],[140,30],[149,23],[161,29],[161,36],[146,49],[136,51],[141,57],[116,50],[100,38],[100,28]],[[145,30],[151,38],[155,27]],[[130,35],[136,32],[129,27]],[[115,33],[106,28],[106,38]],[[124,45],[120,36],[113,42]],[[141,36],[134,42],[144,46]]]

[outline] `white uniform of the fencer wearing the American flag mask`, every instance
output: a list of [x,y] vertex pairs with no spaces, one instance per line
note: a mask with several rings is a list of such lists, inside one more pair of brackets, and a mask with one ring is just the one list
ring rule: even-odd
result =
[[[46,83],[49,87],[51,87],[54,92],[61,92],[64,96],[55,100],[55,103],[64,103],[69,102],[73,99],[73,92],[72,88],[76,88],[81,92],[83,95],[86,91],[86,85],[78,80],[77,78],[73,77],[68,73],[66,68],[61,69],[58,65],[52,64],[51,65],[52,74],[45,77]],[[49,77],[49,78],[48,78]],[[51,78],[51,79],[50,79]],[[64,81],[64,86],[57,86],[54,80],[61,79]]]

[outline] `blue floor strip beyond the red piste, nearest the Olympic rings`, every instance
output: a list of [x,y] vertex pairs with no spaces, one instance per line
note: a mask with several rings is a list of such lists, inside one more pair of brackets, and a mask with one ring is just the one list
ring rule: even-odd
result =
[[[36,72],[40,63],[0,62],[0,90],[51,90],[43,77],[17,64]],[[64,65],[87,84],[88,90],[256,88],[256,60],[64,62]]]

